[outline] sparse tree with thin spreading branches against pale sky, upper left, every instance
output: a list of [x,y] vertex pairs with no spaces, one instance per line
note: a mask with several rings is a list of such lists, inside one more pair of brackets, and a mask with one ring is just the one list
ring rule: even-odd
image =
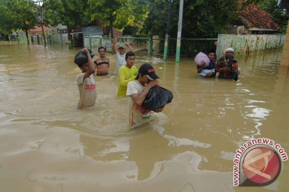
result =
[[44,19],[45,19],[45,4],[48,0],[32,0],[33,7],[30,9],[35,19],[39,22],[42,29],[42,37],[44,41],[44,46],[46,46],[46,37],[44,33]]

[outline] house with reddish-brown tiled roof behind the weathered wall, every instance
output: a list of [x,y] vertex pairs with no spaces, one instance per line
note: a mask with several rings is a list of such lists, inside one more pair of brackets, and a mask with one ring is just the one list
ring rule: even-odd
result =
[[243,26],[229,27],[229,34],[274,34],[280,29],[268,12],[253,4],[239,12],[238,17]]

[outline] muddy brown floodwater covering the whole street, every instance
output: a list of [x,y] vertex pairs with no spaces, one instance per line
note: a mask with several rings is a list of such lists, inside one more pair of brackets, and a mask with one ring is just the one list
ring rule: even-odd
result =
[[152,64],[174,98],[129,130],[111,54],[109,75],[95,77],[95,108],[76,109],[79,49],[0,45],[0,191],[288,191],[288,161],[271,185],[233,187],[233,159],[247,140],[270,138],[289,154],[280,51],[237,57],[238,81],[198,79],[192,60],[136,52],[136,68]]

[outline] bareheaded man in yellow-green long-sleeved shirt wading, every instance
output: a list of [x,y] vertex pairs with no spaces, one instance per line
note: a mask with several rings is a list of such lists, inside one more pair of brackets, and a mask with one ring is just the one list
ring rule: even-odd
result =
[[118,90],[117,96],[125,96],[127,91],[127,83],[136,79],[136,66],[134,66],[136,56],[133,52],[125,54],[126,65],[121,66],[118,71]]

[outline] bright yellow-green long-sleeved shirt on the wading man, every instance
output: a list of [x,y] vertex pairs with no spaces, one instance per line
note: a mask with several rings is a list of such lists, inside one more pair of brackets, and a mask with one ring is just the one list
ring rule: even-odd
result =
[[125,96],[127,92],[127,83],[130,81],[134,81],[136,76],[134,73],[136,72],[136,66],[132,66],[128,68],[126,65],[121,66],[118,71],[118,89],[117,96]]

